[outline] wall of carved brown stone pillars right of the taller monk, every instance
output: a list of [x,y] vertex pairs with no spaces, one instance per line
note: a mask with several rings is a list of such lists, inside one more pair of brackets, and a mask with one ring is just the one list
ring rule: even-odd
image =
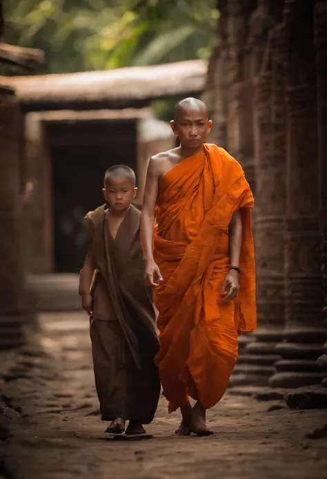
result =
[[326,341],[327,2],[217,3],[204,93],[211,139],[239,160],[255,194],[258,329],[240,341],[231,384],[316,384]]

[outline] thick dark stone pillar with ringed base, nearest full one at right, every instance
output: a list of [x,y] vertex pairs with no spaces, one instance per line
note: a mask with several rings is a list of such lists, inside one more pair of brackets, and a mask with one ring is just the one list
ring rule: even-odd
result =
[[[326,341],[318,231],[317,91],[313,2],[286,0],[288,150],[286,173],[286,328],[271,386],[321,382],[316,359]],[[301,35],[299,35],[301,32]]]

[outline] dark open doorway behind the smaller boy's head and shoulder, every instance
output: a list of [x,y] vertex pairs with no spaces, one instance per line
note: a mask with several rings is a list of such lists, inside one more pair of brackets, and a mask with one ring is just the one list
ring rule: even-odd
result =
[[48,126],[52,156],[55,272],[79,272],[88,247],[84,216],[103,204],[103,174],[112,165],[136,170],[135,122]]

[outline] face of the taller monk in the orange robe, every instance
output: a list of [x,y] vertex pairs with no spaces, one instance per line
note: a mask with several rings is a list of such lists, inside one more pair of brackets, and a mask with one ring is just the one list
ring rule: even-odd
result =
[[179,137],[182,147],[199,148],[206,142],[212,121],[208,120],[206,109],[183,107],[170,122],[172,131]]

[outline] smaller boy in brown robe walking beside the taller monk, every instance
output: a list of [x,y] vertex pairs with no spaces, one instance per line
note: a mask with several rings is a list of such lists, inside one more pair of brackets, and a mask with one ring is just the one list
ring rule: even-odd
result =
[[[139,243],[135,173],[107,169],[106,205],[86,215],[90,250],[81,270],[79,294],[90,314],[95,385],[106,432],[145,433],[157,408],[160,381],[154,358],[159,351],[152,289],[144,284]],[[91,285],[92,283],[92,285]],[[129,421],[126,429],[126,421]]]

